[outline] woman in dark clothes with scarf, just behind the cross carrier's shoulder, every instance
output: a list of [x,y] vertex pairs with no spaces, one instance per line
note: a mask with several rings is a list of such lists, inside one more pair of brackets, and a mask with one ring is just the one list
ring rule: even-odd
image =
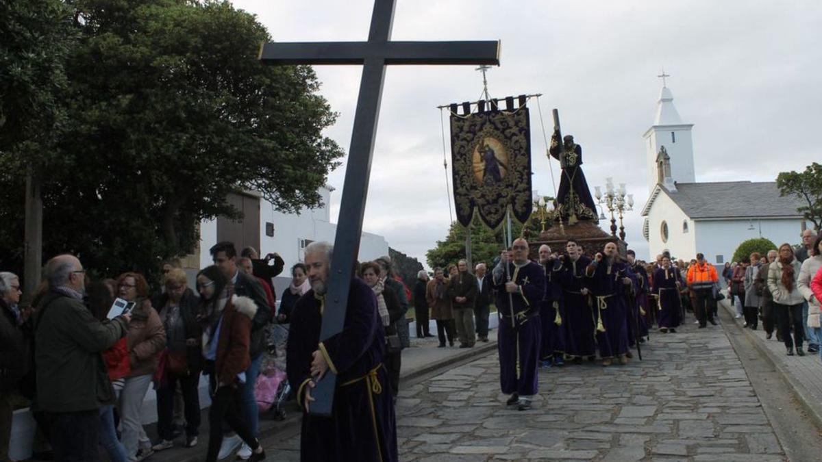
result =
[[400,348],[397,335],[396,321],[403,315],[403,307],[399,304],[399,297],[393,289],[388,287],[385,279],[381,278],[381,266],[376,261],[366,261],[360,266],[360,275],[374,291],[376,307],[380,314],[382,327],[386,333],[386,355],[382,362],[388,371],[388,381],[394,400],[399,393]]

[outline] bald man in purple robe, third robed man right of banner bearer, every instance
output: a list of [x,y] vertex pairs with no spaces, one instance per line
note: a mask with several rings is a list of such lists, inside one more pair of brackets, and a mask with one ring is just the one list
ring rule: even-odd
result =
[[627,364],[628,357],[628,309],[626,299],[636,287],[636,276],[617,252],[617,243],[607,243],[603,252],[594,256],[585,268],[591,281],[594,308],[597,311],[597,344],[603,366],[610,366],[614,358]]

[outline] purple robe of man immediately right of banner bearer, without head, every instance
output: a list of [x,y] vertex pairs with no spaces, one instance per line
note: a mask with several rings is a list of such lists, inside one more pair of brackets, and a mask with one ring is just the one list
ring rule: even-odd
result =
[[549,260],[545,263],[545,297],[539,303],[539,317],[543,324],[542,346],[540,358],[543,361],[552,359],[555,354],[564,354],[566,351],[565,309],[562,303],[561,277],[562,262]]

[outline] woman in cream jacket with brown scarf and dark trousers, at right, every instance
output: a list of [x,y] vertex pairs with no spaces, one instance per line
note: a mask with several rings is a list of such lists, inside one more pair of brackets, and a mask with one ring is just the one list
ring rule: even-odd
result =
[[[787,355],[793,356],[793,344],[797,344],[797,354],[805,356],[802,350],[802,337],[805,332],[802,326],[802,303],[805,298],[797,287],[797,278],[801,265],[793,255],[791,244],[779,246],[777,261],[768,268],[768,289],[774,295],[774,312],[782,332]],[[791,340],[791,321],[793,323],[793,341]]]

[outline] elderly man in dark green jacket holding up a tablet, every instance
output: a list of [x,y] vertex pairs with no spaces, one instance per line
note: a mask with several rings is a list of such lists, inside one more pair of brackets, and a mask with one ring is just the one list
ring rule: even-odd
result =
[[56,460],[98,458],[99,408],[114,401],[102,352],[127,333],[128,314],[101,323],[83,304],[85,270],[75,256],[46,264],[48,293],[35,317],[37,407]]

